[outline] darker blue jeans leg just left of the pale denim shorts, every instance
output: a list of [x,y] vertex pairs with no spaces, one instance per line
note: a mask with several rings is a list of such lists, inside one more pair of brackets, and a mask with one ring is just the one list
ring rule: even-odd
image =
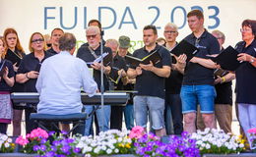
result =
[[127,130],[132,130],[134,127],[133,104],[127,104],[124,109],[124,121]]

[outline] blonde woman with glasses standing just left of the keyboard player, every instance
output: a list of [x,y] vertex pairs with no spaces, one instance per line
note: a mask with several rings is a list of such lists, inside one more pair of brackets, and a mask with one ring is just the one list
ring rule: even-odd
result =
[[[48,52],[45,52],[45,41],[43,35],[40,32],[33,32],[29,49],[32,53],[26,55],[18,69],[18,75],[16,80],[25,84],[25,92],[37,92],[35,83],[39,74],[41,63],[51,56]],[[27,106],[32,104],[27,104]],[[33,108],[28,108],[25,111],[26,114],[26,131],[31,132],[36,128],[36,124],[30,121],[30,115],[35,112]]]

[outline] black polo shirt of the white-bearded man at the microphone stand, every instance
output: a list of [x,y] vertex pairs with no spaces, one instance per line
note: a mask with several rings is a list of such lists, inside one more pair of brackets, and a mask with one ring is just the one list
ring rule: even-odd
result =
[[[97,57],[100,56],[100,45],[94,51],[95,51]],[[103,53],[104,52],[108,53],[108,55],[106,57],[104,57],[104,59],[112,58],[112,51],[109,47],[103,46]],[[83,44],[78,49],[77,57],[84,60],[85,62],[93,62],[93,61],[96,60],[95,56],[89,50],[87,44]],[[104,66],[112,67],[112,61],[108,65],[104,64]],[[101,81],[100,81],[100,71],[94,70],[94,78],[96,80],[96,84],[97,84],[98,89],[100,89],[100,83],[101,83]],[[108,79],[106,78],[105,75],[103,75],[103,84],[104,84],[104,90],[108,90],[109,89],[109,83],[108,83]]]

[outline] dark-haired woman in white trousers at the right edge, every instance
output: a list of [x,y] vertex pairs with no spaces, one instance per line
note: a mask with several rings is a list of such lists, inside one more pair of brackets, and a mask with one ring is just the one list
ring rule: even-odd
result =
[[237,60],[242,62],[235,71],[236,102],[240,125],[252,148],[248,130],[256,128],[256,21],[243,21],[241,35],[243,41],[235,47],[239,52]]

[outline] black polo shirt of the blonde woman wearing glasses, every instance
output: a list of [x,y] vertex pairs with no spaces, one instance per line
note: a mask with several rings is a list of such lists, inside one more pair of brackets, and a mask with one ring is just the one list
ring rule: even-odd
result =
[[[38,64],[41,64],[46,58],[52,56],[52,54],[48,52],[44,52],[44,58],[41,62],[34,57],[34,53],[30,53],[26,55],[21,62],[21,65],[18,69],[17,74],[26,74],[28,72],[34,71]],[[37,78],[30,78],[28,81],[25,82],[25,92],[37,92],[35,88]]]

